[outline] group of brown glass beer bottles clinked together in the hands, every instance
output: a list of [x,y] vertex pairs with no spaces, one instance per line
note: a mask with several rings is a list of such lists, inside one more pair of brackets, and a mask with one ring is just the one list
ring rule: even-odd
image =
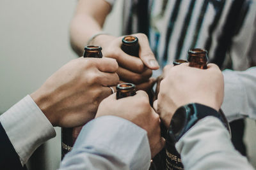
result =
[[[139,57],[139,43],[136,36],[125,36],[122,39],[122,50],[132,56]],[[84,47],[83,57],[93,57],[93,58],[102,58],[102,48],[100,46],[88,45]],[[207,51],[200,48],[191,49],[188,51],[188,60],[175,60],[173,62],[174,66],[188,62],[190,67],[196,67],[198,69],[207,69]],[[157,78],[157,87],[159,89],[160,81],[162,80],[161,76]],[[157,99],[157,91],[150,89],[147,94],[150,99],[150,104],[153,104],[154,100]],[[121,99],[123,97],[134,96],[136,94],[136,85],[132,83],[120,83],[116,86],[116,99]],[[223,111],[219,111],[221,117],[225,122],[227,119],[223,114]],[[227,129],[230,132],[230,127],[227,125]],[[74,128],[62,128],[61,129],[61,159],[65,156],[66,153],[72,150],[76,138],[81,131],[82,127]],[[150,165],[150,170],[155,169],[170,169],[170,170],[180,170],[184,169],[182,165],[182,160],[180,155],[175,149],[174,141],[169,138],[168,129],[161,125],[161,136],[166,139],[166,146],[159,152],[152,160]]]

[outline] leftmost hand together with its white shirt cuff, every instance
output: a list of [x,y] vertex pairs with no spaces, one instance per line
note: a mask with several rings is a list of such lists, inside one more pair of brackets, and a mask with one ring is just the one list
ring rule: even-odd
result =
[[[52,126],[77,127],[95,117],[100,101],[111,94],[107,86],[119,81],[117,67],[113,59],[72,60],[0,116],[22,166],[38,146],[56,135]],[[0,155],[4,157],[3,152]],[[5,161],[12,162],[12,157],[4,157]]]

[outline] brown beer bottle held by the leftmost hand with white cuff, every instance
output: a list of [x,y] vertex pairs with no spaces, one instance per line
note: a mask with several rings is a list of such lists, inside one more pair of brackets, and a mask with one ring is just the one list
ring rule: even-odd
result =
[[[83,57],[102,58],[102,48],[100,46],[88,45],[84,47]],[[83,126],[62,127],[61,128],[61,160],[66,153],[72,150],[76,138]]]

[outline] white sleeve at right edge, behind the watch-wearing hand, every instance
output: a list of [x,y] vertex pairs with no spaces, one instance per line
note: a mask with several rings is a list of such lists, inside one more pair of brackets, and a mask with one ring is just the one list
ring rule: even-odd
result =
[[249,117],[256,120],[256,67],[246,71],[226,69],[225,96],[221,106],[228,121]]

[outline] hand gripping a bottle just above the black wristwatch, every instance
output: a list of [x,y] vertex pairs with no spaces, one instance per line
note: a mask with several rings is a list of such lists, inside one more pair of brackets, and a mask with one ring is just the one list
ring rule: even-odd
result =
[[208,64],[207,67],[198,69],[188,64],[164,67],[164,78],[154,109],[166,127],[170,125],[177,108],[189,103],[200,103],[220,110],[224,92],[223,75],[215,64]]

